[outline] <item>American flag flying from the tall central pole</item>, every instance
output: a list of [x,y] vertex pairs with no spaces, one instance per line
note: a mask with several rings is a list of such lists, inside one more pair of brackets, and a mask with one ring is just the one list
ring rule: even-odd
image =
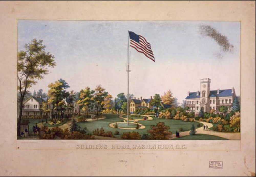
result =
[[143,53],[146,57],[155,62],[155,57],[151,49],[150,43],[148,43],[143,36],[135,34],[132,31],[129,31],[129,36],[130,46],[133,47],[136,51]]

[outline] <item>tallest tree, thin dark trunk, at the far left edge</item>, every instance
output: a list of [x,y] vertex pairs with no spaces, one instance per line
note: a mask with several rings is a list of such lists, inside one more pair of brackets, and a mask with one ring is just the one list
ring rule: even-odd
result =
[[25,44],[23,51],[18,52],[18,90],[19,99],[19,117],[17,135],[20,136],[20,122],[22,118],[22,108],[24,97],[27,89],[37,83],[38,79],[44,78],[48,74],[48,67],[56,65],[54,55],[45,51],[46,46],[42,44],[42,40],[33,39],[31,43]]

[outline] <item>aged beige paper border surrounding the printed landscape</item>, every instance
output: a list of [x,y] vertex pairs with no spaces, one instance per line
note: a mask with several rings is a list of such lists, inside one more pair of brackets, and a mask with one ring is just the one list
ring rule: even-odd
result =
[[[1,175],[250,176],[253,172],[255,175],[254,1],[0,1],[0,12]],[[240,21],[241,141],[204,141],[203,144],[202,141],[179,141],[172,145],[185,145],[186,149],[175,150],[98,150],[77,149],[77,144],[85,142],[81,140],[75,144],[72,141],[55,144],[53,140],[42,141],[41,145],[47,146],[39,150],[38,142],[32,140],[23,142],[26,148],[23,149],[23,145],[17,148],[20,144],[14,127],[18,19]],[[109,141],[90,143],[108,144]],[[161,145],[163,141],[154,143]],[[129,142],[123,141],[123,144]],[[209,161],[223,162],[223,166],[210,168]]]

